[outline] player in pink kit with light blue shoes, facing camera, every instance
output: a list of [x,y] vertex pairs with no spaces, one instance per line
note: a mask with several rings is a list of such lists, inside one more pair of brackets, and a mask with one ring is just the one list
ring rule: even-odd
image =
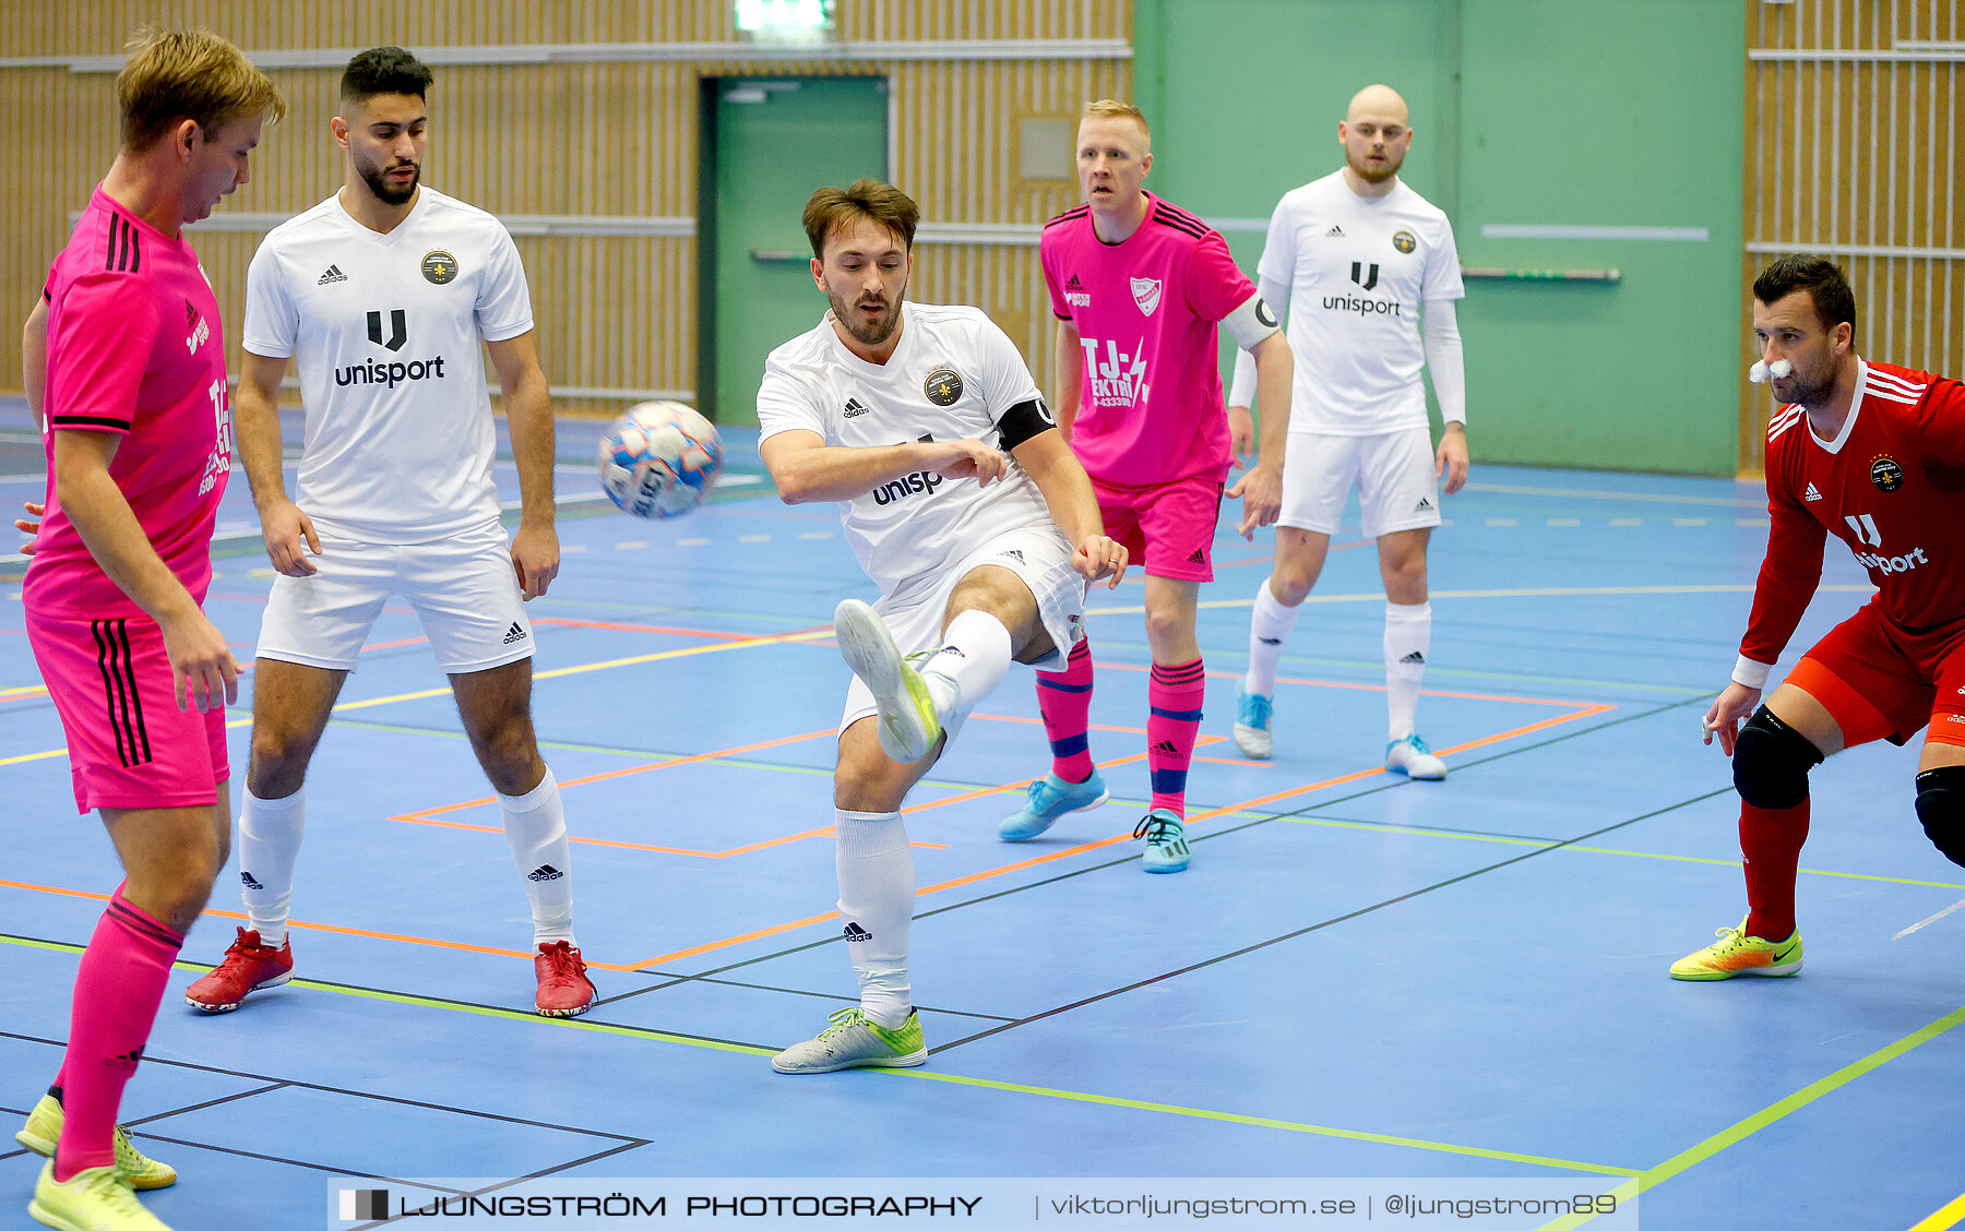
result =
[[[1140,108],[1085,108],[1077,143],[1085,204],[1043,228],[1043,281],[1057,316],[1057,426],[1098,495],[1106,534],[1146,562],[1148,770],[1153,797],[1134,829],[1148,872],[1181,872],[1187,764],[1207,675],[1195,640],[1203,581],[1214,579],[1214,520],[1232,461],[1216,367],[1226,326],[1256,359],[1263,406],[1256,465],[1226,491],[1242,497],[1242,536],[1275,522],[1283,497],[1293,361],[1275,316],[1212,228],[1144,188],[1153,167]],[[1063,671],[1038,671],[1051,772],[996,834],[1036,838],[1073,811],[1106,801],[1091,756],[1093,660],[1081,640]]]

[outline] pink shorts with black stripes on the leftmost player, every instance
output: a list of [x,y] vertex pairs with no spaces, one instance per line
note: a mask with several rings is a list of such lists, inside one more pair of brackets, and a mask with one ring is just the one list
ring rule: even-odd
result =
[[226,707],[177,709],[157,624],[28,611],[28,644],[69,736],[77,811],[218,803],[232,777]]

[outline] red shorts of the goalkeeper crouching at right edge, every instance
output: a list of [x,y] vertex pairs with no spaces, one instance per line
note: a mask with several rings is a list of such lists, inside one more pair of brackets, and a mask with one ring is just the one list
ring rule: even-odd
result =
[[1829,711],[1845,748],[1904,744],[1926,723],[1926,740],[1965,746],[1965,620],[1910,632],[1873,599],[1816,642],[1788,683]]

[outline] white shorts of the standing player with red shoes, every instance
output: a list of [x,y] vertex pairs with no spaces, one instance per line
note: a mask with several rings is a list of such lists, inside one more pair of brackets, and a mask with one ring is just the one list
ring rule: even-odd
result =
[[446,673],[485,671],[533,654],[533,622],[499,522],[419,544],[356,542],[318,524],[314,532],[320,556],[309,552],[307,560],[320,571],[273,579],[259,658],[352,671],[391,595],[417,609]]

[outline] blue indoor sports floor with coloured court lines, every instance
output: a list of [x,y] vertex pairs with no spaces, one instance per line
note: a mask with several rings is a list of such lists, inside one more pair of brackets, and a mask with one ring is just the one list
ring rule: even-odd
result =
[[[1356,524],[1283,660],[1275,760],[1234,754],[1271,540],[1224,524],[1181,876],[1142,876],[1130,840],[1140,587],[1095,591],[1093,752],[1114,801],[994,840],[1047,764],[1032,677],[1012,671],[910,801],[927,1066],[784,1078],[766,1056],[851,997],[829,836],[847,668],[829,630],[841,597],[872,589],[833,508],[780,505],[743,434],[717,499],[672,522],[595,499],[595,434],[562,424],[566,558],[531,613],[601,1003],[529,1011],[497,809],[415,618],[391,607],[307,787],[299,978],[224,1017],[183,1005],[240,917],[226,874],[130,1086],[140,1143],[183,1172],[143,1198],[167,1223],[352,1225],[328,1215],[334,1180],[538,1174],[1611,1176],[1643,1192],[1647,1231],[1965,1217],[1945,1111],[1965,1074],[1965,870],[1918,829],[1914,746],[1814,776],[1800,978],[1666,978],[1745,911],[1727,762],[1698,723],[1765,544],[1755,485],[1476,465],[1432,548],[1421,732],[1444,783],[1377,768],[1383,599]],[[26,412],[0,408],[0,503],[35,495],[39,469]],[[242,475],[220,522],[208,611],[250,660],[269,571]],[[0,575],[14,1117],[59,1064],[77,952],[118,872],[73,811],[20,562]],[[1831,548],[1784,666],[1867,591]],[[242,695],[236,783],[248,715]],[[0,1227],[29,1225],[37,1164],[0,1151]]]

